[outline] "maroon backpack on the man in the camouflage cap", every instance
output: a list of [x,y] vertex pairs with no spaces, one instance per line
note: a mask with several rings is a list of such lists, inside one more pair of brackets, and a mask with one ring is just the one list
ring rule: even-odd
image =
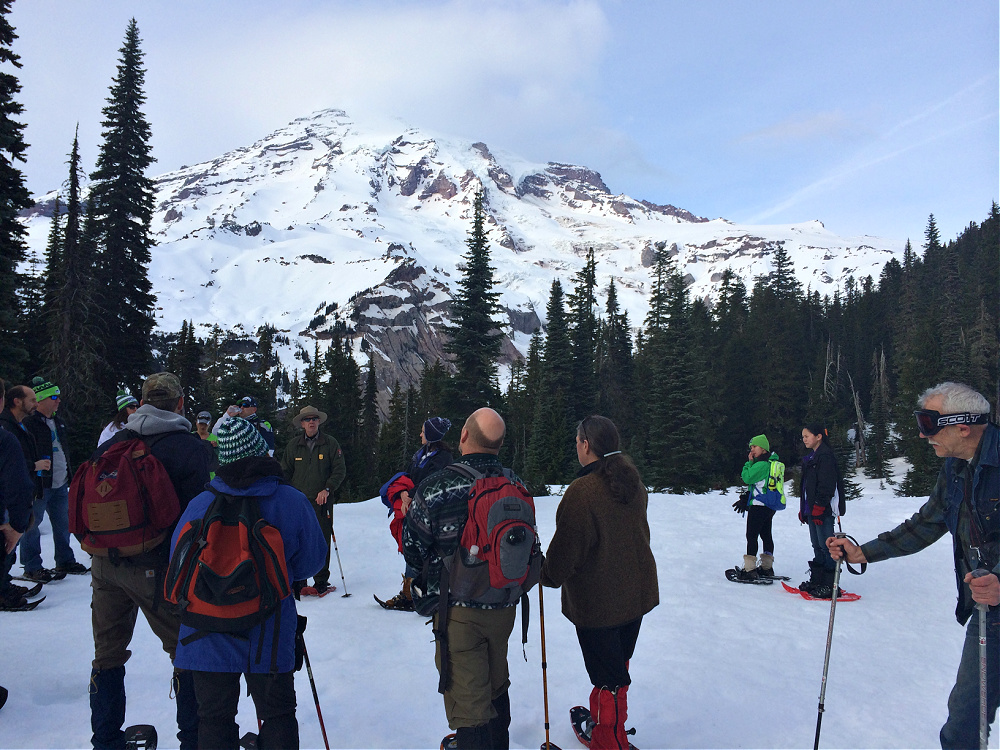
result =
[[[156,436],[158,438],[159,436]],[[69,489],[69,530],[84,552],[131,557],[160,544],[181,513],[153,438],[114,443],[80,465]]]

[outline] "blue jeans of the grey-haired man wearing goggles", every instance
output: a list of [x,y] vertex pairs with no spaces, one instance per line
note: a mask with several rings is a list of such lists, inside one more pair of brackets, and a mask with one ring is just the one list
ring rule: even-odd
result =
[[[986,720],[993,723],[1000,705],[1000,607],[986,615]],[[987,732],[989,728],[987,727]],[[948,696],[948,721],[941,727],[944,750],[979,747],[979,611],[965,630],[965,646],[955,687]]]

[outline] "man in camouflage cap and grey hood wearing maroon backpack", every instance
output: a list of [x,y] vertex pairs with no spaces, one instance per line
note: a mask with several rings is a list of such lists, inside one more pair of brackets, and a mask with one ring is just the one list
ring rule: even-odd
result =
[[[77,470],[70,487],[70,531],[93,555],[90,723],[96,750],[125,748],[125,662],[132,655],[128,645],[136,615],[142,612],[171,662],[177,650],[180,619],[163,602],[162,594],[170,547],[166,542],[178,513],[208,482],[211,458],[206,444],[191,433],[191,423],[183,413],[184,396],[177,376],[169,372],[149,376],[142,385],[140,406],[128,418],[125,429],[98,447],[91,460]],[[119,443],[128,445],[116,449]],[[152,486],[138,478],[130,492],[147,500],[115,499],[115,508],[110,510],[124,511],[129,522],[124,528],[112,529],[115,524],[109,518],[114,513],[97,499],[102,493],[104,498],[115,498],[118,482],[124,480],[125,474],[132,474],[127,463],[108,467],[101,458],[107,452],[118,454],[123,450],[122,461],[146,461],[136,477],[145,477],[147,472],[162,476],[156,472],[165,471],[169,483]],[[144,504],[156,507],[147,508],[146,516],[137,515],[136,507]],[[172,505],[169,512],[156,515],[168,504]],[[167,516],[173,519],[165,520]],[[152,521],[154,517],[159,520]],[[117,546],[108,546],[109,540]],[[181,750],[193,750],[198,746],[198,705],[191,673],[175,670],[172,687],[177,696],[177,739]]]

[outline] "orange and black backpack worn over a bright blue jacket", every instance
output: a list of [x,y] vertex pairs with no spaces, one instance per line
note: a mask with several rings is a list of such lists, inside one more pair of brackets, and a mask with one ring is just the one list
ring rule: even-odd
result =
[[[211,489],[211,488],[209,488]],[[181,623],[208,633],[238,633],[275,614],[292,592],[281,532],[260,514],[259,498],[211,491],[202,518],[184,524],[164,580],[164,598]],[[278,617],[274,626],[278,641]],[[277,668],[272,649],[272,670]]]

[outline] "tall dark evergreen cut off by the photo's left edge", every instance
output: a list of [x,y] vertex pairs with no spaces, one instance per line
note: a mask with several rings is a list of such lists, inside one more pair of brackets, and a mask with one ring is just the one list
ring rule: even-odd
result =
[[[12,2],[0,0],[0,64],[20,68],[20,56],[12,49],[17,34],[7,20]],[[4,376],[12,381],[26,374],[23,367],[28,358],[25,342],[15,335],[20,328],[17,290],[21,279],[17,265],[25,257],[25,229],[17,214],[31,205],[24,175],[16,166],[16,162],[24,163],[28,148],[24,124],[15,119],[24,112],[14,98],[20,91],[17,77],[0,71],[0,362]]]

